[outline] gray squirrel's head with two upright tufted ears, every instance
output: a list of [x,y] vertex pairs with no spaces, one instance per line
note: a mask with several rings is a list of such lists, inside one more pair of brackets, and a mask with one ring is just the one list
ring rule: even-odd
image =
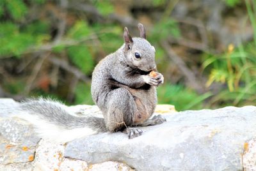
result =
[[127,27],[124,28],[124,54],[126,63],[131,68],[137,68],[142,71],[156,70],[155,48],[146,40],[145,28],[138,24],[140,29],[140,38],[132,38]]

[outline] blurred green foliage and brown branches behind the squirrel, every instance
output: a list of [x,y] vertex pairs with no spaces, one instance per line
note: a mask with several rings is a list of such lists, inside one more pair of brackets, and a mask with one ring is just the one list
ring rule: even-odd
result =
[[0,97],[93,104],[92,71],[144,24],[177,110],[256,102],[256,1],[0,0]]

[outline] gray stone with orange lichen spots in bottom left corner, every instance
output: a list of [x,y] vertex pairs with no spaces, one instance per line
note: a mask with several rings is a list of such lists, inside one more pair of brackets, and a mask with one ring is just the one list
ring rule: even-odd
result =
[[36,137],[31,124],[19,118],[0,119],[0,164],[34,160]]

